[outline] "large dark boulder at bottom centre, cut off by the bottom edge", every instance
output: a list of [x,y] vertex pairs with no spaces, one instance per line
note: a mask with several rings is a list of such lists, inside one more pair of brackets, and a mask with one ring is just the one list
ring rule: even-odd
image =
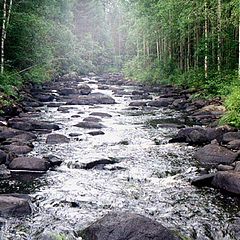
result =
[[110,213],[80,233],[85,240],[177,240],[160,223],[133,213]]

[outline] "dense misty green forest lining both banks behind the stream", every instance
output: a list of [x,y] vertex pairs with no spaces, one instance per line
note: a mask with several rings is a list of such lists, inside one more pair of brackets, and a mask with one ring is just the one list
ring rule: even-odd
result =
[[228,96],[223,121],[240,126],[238,0],[2,0],[1,15],[4,104],[29,81],[123,71]]

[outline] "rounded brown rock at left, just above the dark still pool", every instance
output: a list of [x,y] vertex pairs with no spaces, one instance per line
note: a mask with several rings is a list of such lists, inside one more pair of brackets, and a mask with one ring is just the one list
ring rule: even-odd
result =
[[49,169],[49,163],[45,159],[36,157],[18,157],[10,162],[9,169],[46,172]]

